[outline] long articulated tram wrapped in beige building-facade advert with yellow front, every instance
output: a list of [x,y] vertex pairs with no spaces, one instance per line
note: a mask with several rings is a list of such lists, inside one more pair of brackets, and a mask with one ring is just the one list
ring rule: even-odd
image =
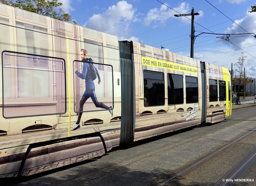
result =
[[[0,177],[231,115],[224,67],[3,4],[0,32]],[[92,60],[81,61],[81,49]],[[98,71],[94,93],[105,109],[90,98],[79,108],[85,63]],[[79,113],[80,128],[70,131]]]

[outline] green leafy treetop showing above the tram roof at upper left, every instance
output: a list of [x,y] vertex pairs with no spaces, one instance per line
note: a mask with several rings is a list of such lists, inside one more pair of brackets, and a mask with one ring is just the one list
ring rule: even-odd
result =
[[[13,6],[36,14],[49,16],[58,20],[71,21],[71,16],[65,13],[62,9],[55,11],[55,7],[61,6],[58,0],[0,0],[2,4]],[[77,25],[76,21],[73,21]]]

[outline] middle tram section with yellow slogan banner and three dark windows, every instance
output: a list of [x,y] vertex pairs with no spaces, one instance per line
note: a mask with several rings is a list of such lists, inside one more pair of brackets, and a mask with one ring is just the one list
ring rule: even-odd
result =
[[[134,140],[201,123],[200,61],[133,41]],[[152,118],[152,119],[151,119]],[[146,124],[146,120],[151,124]]]

